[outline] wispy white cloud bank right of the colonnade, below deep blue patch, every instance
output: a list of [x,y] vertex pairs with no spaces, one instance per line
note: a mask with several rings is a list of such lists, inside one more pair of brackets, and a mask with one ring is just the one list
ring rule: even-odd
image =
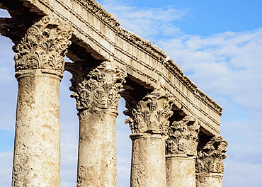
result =
[[[200,89],[224,106],[221,130],[229,141],[229,157],[224,161],[224,186],[259,186],[262,183],[259,156],[262,28],[208,37],[182,35],[183,30],[175,24],[190,16],[188,10],[147,9],[118,6],[115,1],[104,2],[106,8],[120,18],[123,27],[153,40]],[[165,28],[171,32],[165,33]]]

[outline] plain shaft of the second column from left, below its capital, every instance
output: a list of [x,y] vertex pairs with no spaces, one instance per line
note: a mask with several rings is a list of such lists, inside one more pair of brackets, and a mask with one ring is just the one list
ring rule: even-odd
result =
[[78,187],[118,186],[115,119],[106,110],[79,112]]

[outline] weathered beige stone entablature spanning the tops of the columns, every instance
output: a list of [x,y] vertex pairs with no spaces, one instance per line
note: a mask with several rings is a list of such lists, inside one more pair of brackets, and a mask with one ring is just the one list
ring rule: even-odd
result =
[[[74,30],[72,42],[84,47],[96,60],[124,65],[129,77],[132,76],[145,88],[154,89],[160,81],[187,115],[198,116],[201,127],[207,133],[219,134],[222,108],[200,91],[159,47],[120,28],[115,17],[104,11],[96,1],[56,0],[50,3],[47,0],[25,0],[23,4],[40,15],[55,14],[71,24]],[[0,6],[8,8],[11,5],[5,3]],[[86,11],[89,13],[84,13]]]

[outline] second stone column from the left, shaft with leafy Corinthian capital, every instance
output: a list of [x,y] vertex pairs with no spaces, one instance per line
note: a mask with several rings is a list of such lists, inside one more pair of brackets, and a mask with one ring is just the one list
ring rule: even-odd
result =
[[77,186],[116,187],[115,120],[126,74],[113,62],[80,69],[69,69],[80,125]]

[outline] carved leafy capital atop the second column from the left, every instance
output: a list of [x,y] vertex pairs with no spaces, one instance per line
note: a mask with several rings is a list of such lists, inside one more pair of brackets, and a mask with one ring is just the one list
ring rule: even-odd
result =
[[127,74],[112,62],[102,62],[95,69],[85,69],[83,76],[72,77],[71,95],[76,98],[76,109],[112,109],[117,113],[120,92]]

